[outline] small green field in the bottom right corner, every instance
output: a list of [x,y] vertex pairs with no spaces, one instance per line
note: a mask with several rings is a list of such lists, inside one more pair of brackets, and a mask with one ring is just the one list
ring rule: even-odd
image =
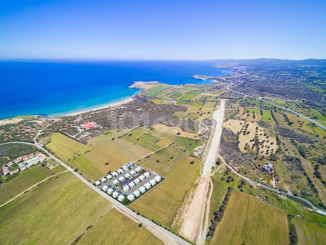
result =
[[308,221],[295,218],[294,225],[298,236],[298,245],[322,245],[326,241],[326,227],[320,227]]

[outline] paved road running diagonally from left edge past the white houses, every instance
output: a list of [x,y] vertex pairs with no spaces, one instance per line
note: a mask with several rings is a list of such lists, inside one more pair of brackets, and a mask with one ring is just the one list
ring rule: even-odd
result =
[[[31,142],[22,142],[22,141],[12,141],[12,142],[6,142],[2,144],[9,144],[9,143],[24,143],[24,144],[30,144],[36,146],[38,149],[41,151],[45,152],[51,159],[59,162],[61,165],[63,165],[68,171],[70,171],[74,176],[76,176],[79,180],[83,181],[86,185],[88,185],[90,188],[92,188],[94,191],[102,195],[103,198],[107,199],[112,203],[112,205],[121,210],[123,213],[127,214],[128,216],[132,217],[135,220],[138,220],[138,222],[142,223],[144,227],[148,227],[151,229],[154,229],[156,232],[160,233],[162,236],[166,236],[166,240],[173,240],[176,244],[180,245],[190,245],[190,243],[186,242],[182,238],[178,237],[177,235],[169,232],[168,230],[156,225],[155,223],[151,222],[147,218],[144,218],[141,215],[137,215],[137,213],[133,212],[126,206],[122,205],[119,203],[117,200],[112,198],[110,195],[105,194],[103,191],[99,190],[96,188],[94,185],[92,185],[88,180],[86,180],[83,176],[79,175],[77,172],[74,172],[74,169],[72,169],[70,166],[65,164],[63,161],[61,161],[59,158],[56,156],[52,155],[50,152],[48,152],[46,149],[44,149],[40,144],[38,143],[31,143]],[[150,229],[149,229],[150,230]]]

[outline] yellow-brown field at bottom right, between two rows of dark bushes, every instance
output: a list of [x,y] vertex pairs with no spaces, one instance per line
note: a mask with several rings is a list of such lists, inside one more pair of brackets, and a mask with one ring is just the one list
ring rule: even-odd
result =
[[210,244],[289,244],[286,213],[255,197],[233,191]]

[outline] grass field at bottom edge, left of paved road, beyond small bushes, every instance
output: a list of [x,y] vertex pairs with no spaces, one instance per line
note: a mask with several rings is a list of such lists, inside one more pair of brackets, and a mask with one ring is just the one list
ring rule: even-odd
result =
[[[119,232],[117,232],[117,228],[121,228]],[[127,236],[123,234],[126,231]],[[164,243],[153,236],[146,228],[139,227],[136,223],[131,222],[125,215],[112,209],[98,219],[97,222],[94,223],[93,228],[87,231],[78,241],[78,245],[83,244],[162,245]]]

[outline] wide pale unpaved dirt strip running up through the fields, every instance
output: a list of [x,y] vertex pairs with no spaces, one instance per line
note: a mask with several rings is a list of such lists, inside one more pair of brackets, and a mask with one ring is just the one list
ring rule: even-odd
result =
[[212,115],[212,118],[215,120],[215,128],[209,145],[207,158],[203,164],[201,178],[195,190],[193,200],[185,211],[180,229],[180,233],[184,237],[193,241],[197,240],[198,244],[204,244],[206,238],[206,226],[204,226],[203,229],[203,220],[205,214],[205,206],[206,210],[209,210],[210,201],[210,198],[207,200],[206,196],[209,189],[209,183],[211,183],[211,168],[215,164],[216,154],[218,153],[220,146],[222,124],[224,118],[224,107],[225,101],[221,100],[220,109],[214,111]]

